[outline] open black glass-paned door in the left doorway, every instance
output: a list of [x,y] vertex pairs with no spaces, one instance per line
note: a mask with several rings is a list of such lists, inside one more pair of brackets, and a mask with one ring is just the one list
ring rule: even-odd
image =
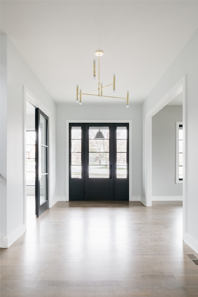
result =
[[48,116],[35,109],[35,214],[39,217],[48,207]]

